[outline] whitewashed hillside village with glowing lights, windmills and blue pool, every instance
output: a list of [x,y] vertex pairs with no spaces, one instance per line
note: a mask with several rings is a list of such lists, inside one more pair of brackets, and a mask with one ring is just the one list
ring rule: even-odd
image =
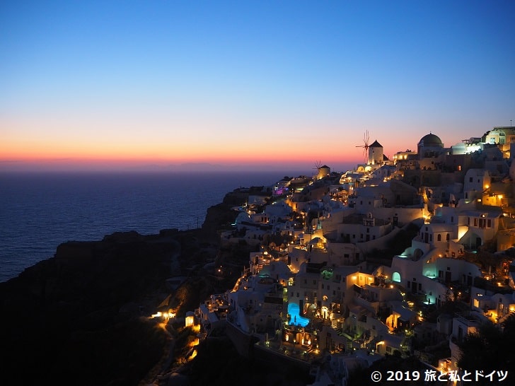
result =
[[388,354],[459,370],[468,333],[502,328],[515,311],[515,129],[450,147],[429,133],[393,159],[378,141],[364,150],[355,170],[317,163],[233,208],[221,245],[257,252],[187,324],[224,331],[243,356],[306,365],[313,385],[346,385]]

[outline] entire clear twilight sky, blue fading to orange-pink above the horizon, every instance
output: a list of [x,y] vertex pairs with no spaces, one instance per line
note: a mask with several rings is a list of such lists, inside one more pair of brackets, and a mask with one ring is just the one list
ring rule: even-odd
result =
[[515,120],[513,1],[0,3],[0,171],[347,170]]

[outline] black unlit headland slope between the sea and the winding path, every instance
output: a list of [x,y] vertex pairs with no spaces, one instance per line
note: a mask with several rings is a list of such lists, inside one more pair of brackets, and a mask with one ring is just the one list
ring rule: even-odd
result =
[[166,334],[144,315],[166,291],[180,243],[135,232],[66,242],[0,283],[4,385],[137,385]]

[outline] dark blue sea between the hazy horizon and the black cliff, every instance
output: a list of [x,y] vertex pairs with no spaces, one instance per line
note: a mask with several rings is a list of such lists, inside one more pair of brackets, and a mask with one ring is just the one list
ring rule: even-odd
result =
[[202,226],[237,187],[272,185],[277,172],[0,174],[0,281],[52,257],[68,240],[126,230]]

